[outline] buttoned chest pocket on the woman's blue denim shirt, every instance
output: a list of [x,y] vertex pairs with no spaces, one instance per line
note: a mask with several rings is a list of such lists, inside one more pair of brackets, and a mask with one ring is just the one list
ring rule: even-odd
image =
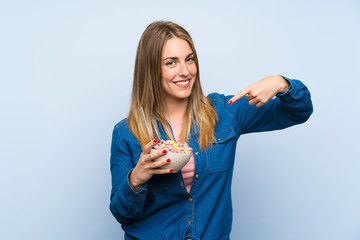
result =
[[231,127],[215,133],[214,136],[216,142],[206,151],[208,171],[211,173],[227,171],[234,159],[235,131]]

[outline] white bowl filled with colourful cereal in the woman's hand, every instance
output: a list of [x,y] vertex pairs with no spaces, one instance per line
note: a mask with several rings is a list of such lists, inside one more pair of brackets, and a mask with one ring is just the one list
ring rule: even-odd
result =
[[161,168],[172,168],[174,170],[173,173],[180,171],[181,168],[189,162],[192,156],[191,148],[185,148],[184,144],[177,143],[173,140],[160,140],[150,152],[159,150],[166,150],[167,153],[154,159],[154,161],[161,161],[169,158],[171,162]]

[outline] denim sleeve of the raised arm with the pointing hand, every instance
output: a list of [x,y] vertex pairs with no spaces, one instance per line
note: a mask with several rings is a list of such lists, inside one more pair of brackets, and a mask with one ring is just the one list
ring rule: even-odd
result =
[[289,90],[260,108],[250,105],[246,97],[228,105],[232,96],[221,96],[223,106],[236,121],[240,134],[279,130],[307,121],[313,112],[309,90],[299,80],[284,78],[290,83]]

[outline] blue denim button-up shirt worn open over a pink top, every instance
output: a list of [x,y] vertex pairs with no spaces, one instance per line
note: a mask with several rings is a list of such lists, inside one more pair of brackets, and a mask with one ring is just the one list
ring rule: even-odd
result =
[[[129,185],[141,146],[126,119],[113,131],[111,146],[112,191],[110,210],[121,223],[125,239],[229,239],[232,225],[231,179],[235,149],[241,134],[284,129],[305,122],[313,108],[310,93],[298,80],[287,79],[289,90],[264,106],[249,105],[246,98],[232,105],[232,96],[212,93],[219,121],[216,143],[204,151],[193,128],[188,145],[193,148],[195,173],[188,193],[181,172],[154,175],[139,191]],[[161,138],[166,139],[160,128]]]

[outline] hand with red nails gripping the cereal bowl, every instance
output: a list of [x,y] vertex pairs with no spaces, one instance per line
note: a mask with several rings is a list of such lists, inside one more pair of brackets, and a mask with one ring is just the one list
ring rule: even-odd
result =
[[160,167],[165,166],[170,162],[170,159],[163,161],[154,161],[167,153],[166,150],[159,150],[150,153],[152,147],[157,143],[157,140],[149,142],[144,146],[143,152],[140,155],[140,159],[132,170],[129,176],[129,183],[134,191],[138,191],[154,174],[167,174],[171,173],[173,169],[162,169]]

